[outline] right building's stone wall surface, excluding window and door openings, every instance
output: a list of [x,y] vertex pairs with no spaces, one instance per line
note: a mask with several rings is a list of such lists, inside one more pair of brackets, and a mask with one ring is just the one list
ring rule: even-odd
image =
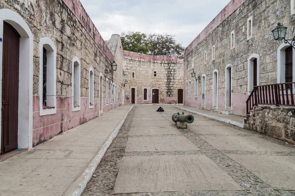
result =
[[[185,49],[184,90],[185,105],[200,108],[202,102],[199,82],[198,97],[194,96],[194,79],[206,75],[206,105],[212,109],[213,71],[218,71],[218,112],[225,108],[226,66],[232,66],[232,111],[236,115],[246,115],[245,101],[248,98],[249,57],[257,54],[259,67],[259,85],[280,83],[277,76],[277,50],[282,41],[275,41],[271,30],[280,21],[288,27],[287,37],[294,36],[295,16],[291,15],[291,0],[232,0],[213,21]],[[247,19],[253,17],[253,37],[247,39]],[[235,48],[231,49],[231,32],[235,31]],[[282,44],[282,45],[281,45]],[[215,45],[215,59],[212,47]],[[207,51],[207,62],[205,62]],[[194,68],[193,68],[194,66]],[[188,97],[188,82],[192,80],[192,96]],[[282,82],[283,83],[283,82]]]

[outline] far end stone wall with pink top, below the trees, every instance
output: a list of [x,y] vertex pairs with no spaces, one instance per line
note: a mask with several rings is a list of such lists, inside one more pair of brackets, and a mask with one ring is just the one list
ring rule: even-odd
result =
[[[159,103],[177,103],[177,89],[183,88],[183,60],[176,56],[150,56],[123,51],[125,68],[126,104],[131,102],[131,88],[136,88],[136,104],[152,103],[152,89],[159,89]],[[156,76],[153,76],[153,72]],[[132,78],[132,72],[135,78]],[[148,88],[148,100],[143,100],[143,89]]]

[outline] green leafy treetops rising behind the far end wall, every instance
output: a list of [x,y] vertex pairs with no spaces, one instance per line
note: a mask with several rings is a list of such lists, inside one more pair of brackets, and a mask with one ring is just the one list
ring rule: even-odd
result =
[[121,34],[124,50],[149,55],[183,56],[184,47],[175,40],[175,35],[145,34],[128,31]]

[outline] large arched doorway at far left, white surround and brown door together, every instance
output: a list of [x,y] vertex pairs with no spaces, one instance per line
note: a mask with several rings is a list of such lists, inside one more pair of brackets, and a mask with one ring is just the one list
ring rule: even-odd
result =
[[[0,22],[3,29],[0,35],[3,38],[0,47],[0,100],[3,100],[0,143],[1,153],[5,153],[17,147],[32,147],[33,35],[23,18],[12,10],[0,9]],[[9,50],[4,49],[6,47]],[[7,63],[19,70],[7,70]],[[7,94],[16,96],[7,98]],[[9,116],[7,119],[7,113],[10,115],[12,111],[16,113],[13,114],[15,117]]]

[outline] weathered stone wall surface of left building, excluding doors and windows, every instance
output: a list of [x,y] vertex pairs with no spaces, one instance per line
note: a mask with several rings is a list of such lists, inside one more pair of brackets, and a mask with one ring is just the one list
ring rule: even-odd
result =
[[[100,104],[103,111],[112,109],[106,105],[106,78],[113,81],[121,91],[123,83],[120,39],[112,51],[91,22],[79,0],[1,0],[0,9],[10,9],[19,14],[29,25],[33,34],[33,146],[81,123],[97,117]],[[2,25],[1,25],[2,28]],[[39,106],[39,40],[50,38],[57,48],[56,62],[56,114],[40,115]],[[115,38],[114,38],[115,39]],[[72,108],[72,59],[81,61],[81,109]],[[105,75],[112,63],[118,65],[117,72]],[[89,68],[94,73],[94,107],[89,108]],[[21,74],[21,73],[20,73]],[[99,87],[99,75],[103,75],[103,88]],[[111,92],[109,85],[109,93]],[[99,100],[102,95],[103,103]],[[22,96],[22,95],[20,95]],[[110,98],[110,95],[108,96]],[[118,98],[118,96],[117,96]],[[110,102],[110,101],[109,101]],[[121,101],[116,101],[117,107]]]

